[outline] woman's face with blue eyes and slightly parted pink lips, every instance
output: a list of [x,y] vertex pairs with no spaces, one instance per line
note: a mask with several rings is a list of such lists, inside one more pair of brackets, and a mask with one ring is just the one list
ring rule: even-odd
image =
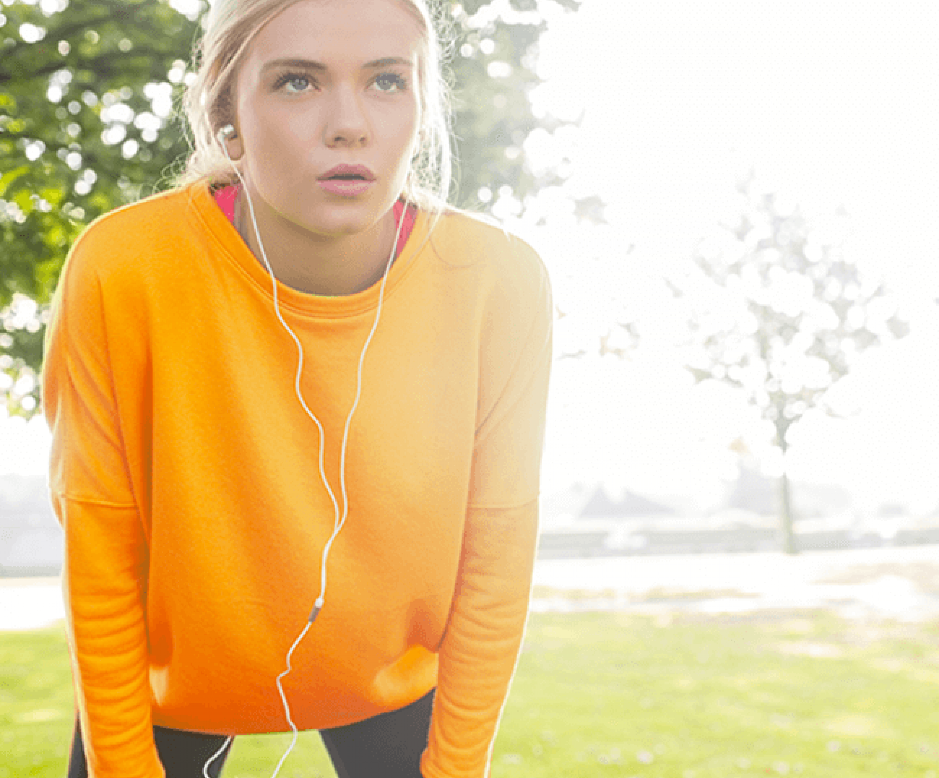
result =
[[324,237],[377,223],[417,148],[420,47],[397,0],[300,0],[258,32],[229,148],[262,208]]

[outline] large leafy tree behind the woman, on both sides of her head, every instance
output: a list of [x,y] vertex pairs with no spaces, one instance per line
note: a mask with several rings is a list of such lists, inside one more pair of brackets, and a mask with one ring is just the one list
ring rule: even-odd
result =
[[[441,0],[451,28],[458,173],[452,201],[497,218],[562,170],[531,172],[528,93],[546,13],[579,0]],[[0,403],[38,411],[48,303],[89,221],[169,185],[188,153],[175,107],[203,0],[0,0]],[[185,12],[183,12],[185,11]],[[602,203],[573,204],[602,219]]]

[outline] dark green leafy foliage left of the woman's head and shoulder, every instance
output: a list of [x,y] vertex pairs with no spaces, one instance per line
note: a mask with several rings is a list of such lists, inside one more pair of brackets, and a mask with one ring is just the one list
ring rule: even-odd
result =
[[0,390],[38,408],[47,305],[69,245],[156,191],[185,155],[165,132],[197,23],[156,0],[0,6]]

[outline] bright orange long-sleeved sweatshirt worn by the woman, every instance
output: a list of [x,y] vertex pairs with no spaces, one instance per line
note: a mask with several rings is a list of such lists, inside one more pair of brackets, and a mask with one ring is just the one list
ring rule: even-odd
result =
[[[284,687],[295,723],[319,729],[436,685],[423,775],[479,778],[528,609],[552,307],[524,242],[458,213],[429,226],[420,214],[389,275],[348,519]],[[279,295],[341,501],[378,285]],[[162,776],[152,724],[287,730],[275,678],[334,511],[268,272],[196,184],[89,227],[53,311],[43,401],[91,775]]]

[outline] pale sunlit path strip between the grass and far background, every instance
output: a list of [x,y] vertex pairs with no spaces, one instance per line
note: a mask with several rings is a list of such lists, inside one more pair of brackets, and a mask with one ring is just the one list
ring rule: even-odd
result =
[[[939,546],[545,559],[534,583],[538,612],[826,608],[854,618],[924,621],[939,619]],[[0,579],[0,630],[32,630],[63,614],[57,579]]]

